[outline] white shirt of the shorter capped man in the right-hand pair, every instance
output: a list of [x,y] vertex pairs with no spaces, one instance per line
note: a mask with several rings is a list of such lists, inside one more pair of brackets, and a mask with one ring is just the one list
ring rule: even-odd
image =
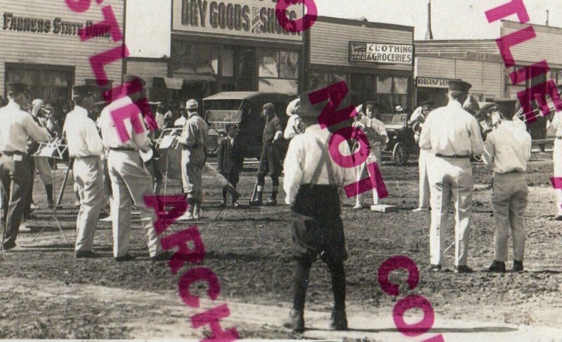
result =
[[530,156],[531,136],[507,120],[488,134],[482,154],[486,167],[497,173],[526,171]]

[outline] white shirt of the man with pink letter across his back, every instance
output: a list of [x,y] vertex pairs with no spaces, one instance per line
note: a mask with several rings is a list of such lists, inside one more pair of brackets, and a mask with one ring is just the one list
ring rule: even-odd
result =
[[126,140],[123,142],[119,133],[117,132],[117,128],[113,122],[113,118],[111,115],[112,111],[117,111],[119,108],[125,107],[126,105],[133,104],[133,101],[129,96],[125,96],[124,98],[119,98],[110,105],[107,105],[100,114],[100,119],[98,120],[98,126],[100,126],[101,130],[101,138],[103,141],[103,145],[106,148],[133,148],[135,150],[148,150],[150,146],[150,139],[148,138],[148,129],[146,128],[145,121],[143,120],[141,110],[136,107],[138,110],[138,120],[141,121],[143,125],[143,133],[135,133],[133,129],[133,125],[131,124],[131,119],[124,119],[125,129],[126,132],[129,133],[129,137],[131,139]]

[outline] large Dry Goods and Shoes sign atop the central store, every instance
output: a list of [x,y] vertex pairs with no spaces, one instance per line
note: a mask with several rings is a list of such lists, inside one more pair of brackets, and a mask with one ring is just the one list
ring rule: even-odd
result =
[[[172,29],[254,39],[302,41],[301,32],[288,32],[280,27],[275,17],[276,4],[276,0],[174,0]],[[303,5],[290,6],[285,14],[291,20],[302,18]]]

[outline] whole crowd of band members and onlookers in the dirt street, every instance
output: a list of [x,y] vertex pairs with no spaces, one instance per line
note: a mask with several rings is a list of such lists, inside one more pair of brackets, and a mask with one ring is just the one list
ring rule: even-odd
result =
[[[124,84],[145,81],[134,75],[125,75]],[[479,107],[469,96],[471,85],[465,81],[450,81],[449,103],[434,108],[431,101],[420,103],[407,120],[419,143],[419,206],[413,211],[431,211],[429,229],[430,270],[443,268],[447,216],[455,209],[455,272],[472,272],[467,263],[469,228],[472,213],[473,175],[471,157],[481,155],[485,166],[494,173],[492,207],[495,219],[495,255],[488,268],[492,272],[505,272],[509,230],[513,240],[514,261],[511,270],[523,270],[525,230],[523,217],[528,203],[525,171],[530,158],[531,138],[523,121],[516,115],[516,100],[496,100]],[[8,103],[0,108],[0,190],[2,199],[2,251],[18,249],[16,238],[25,226],[21,225],[31,213],[32,185],[36,172],[44,183],[48,207],[53,208],[53,173],[51,161],[46,157],[33,157],[40,143],[64,136],[72,159],[74,190],[77,193],[76,258],[96,258],[92,250],[100,212],[110,204],[112,221],[113,256],[115,261],[131,261],[129,254],[131,235],[131,206],[140,211],[141,222],[152,261],[171,257],[162,251],[159,236],[154,228],[155,213],[145,206],[143,197],[159,192],[162,172],[155,162],[155,138],[162,129],[176,127],[180,132],[176,140],[181,145],[181,173],[183,193],[188,201],[188,211],[181,219],[202,218],[202,170],[207,162],[207,136],[209,126],[198,114],[197,100],[188,100],[177,112],[164,113],[162,103],[152,103],[152,112],[158,130],[146,129],[138,133],[131,122],[124,127],[128,140],[123,140],[116,129],[112,112],[133,105],[145,97],[145,88],[111,103],[96,103],[97,89],[93,86],[74,86],[74,106],[60,125],[53,115],[53,107],[41,99],[31,101],[25,84],[7,85]],[[262,107],[266,119],[263,145],[256,186],[250,204],[275,206],[280,186],[280,175],[285,174],[283,188],[285,202],[292,211],[293,254],[296,258],[294,278],[294,303],[286,327],[296,331],[304,328],[303,308],[312,263],[320,256],[332,275],[334,310],[332,327],[346,329],[346,277],[344,261],[346,246],[344,223],[341,221],[341,203],[348,196],[344,188],[367,178],[367,165],[381,162],[381,147],[388,143],[388,134],[379,120],[378,105],[369,101],[365,110],[356,108],[353,127],[365,133],[369,154],[354,169],[345,169],[332,158],[328,143],[335,130],[322,128],[318,117],[323,104],[312,105],[304,94],[289,103],[289,117],[284,127],[277,117],[273,103]],[[396,113],[402,112],[396,107]],[[139,115],[145,115],[141,109]],[[147,118],[145,117],[145,120]],[[548,121],[549,129],[556,131],[554,143],[554,175],[562,176],[558,154],[562,145],[562,117],[556,113]],[[62,127],[61,127],[62,126]],[[237,206],[240,194],[236,185],[240,180],[243,157],[237,149],[237,126],[221,131],[223,138],[218,146],[218,173],[226,179],[222,205],[230,202]],[[281,139],[290,140],[283,156],[277,148]],[[342,144],[344,155],[358,152],[360,146]],[[71,166],[69,166],[71,167]],[[271,197],[263,202],[265,178],[272,180]],[[357,191],[353,209],[365,207],[363,194]],[[372,190],[373,204],[379,203],[377,189]],[[562,220],[562,195],[558,195],[558,215]]]

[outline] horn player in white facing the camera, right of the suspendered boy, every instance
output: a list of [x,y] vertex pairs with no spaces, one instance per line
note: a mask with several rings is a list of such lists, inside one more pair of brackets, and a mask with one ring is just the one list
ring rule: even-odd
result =
[[[365,162],[362,162],[357,169],[356,177],[357,180],[362,180],[363,178],[367,177],[367,164],[371,164],[373,162],[379,162],[381,160],[381,150],[380,147],[382,144],[388,143],[388,134],[386,133],[386,129],[384,128],[384,124],[374,118],[374,102],[367,102],[367,109],[365,113],[361,110],[358,110],[357,121],[353,123],[353,126],[359,127],[367,136],[367,140],[369,140],[369,156],[365,159]],[[355,145],[359,147],[359,144]],[[373,204],[379,204],[379,194],[377,189],[372,189],[373,194]],[[365,192],[358,194],[355,197],[355,206],[353,209],[362,209],[364,206],[363,199]]]

